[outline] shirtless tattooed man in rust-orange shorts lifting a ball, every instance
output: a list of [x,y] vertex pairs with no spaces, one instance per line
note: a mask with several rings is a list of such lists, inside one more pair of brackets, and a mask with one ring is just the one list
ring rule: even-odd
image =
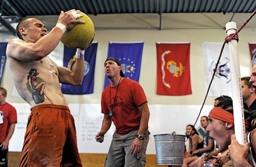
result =
[[[16,28],[20,39],[11,39],[7,44],[6,55],[15,87],[31,108],[20,166],[82,166],[74,118],[60,83],[82,84],[85,48],[77,49],[72,71],[59,67],[48,57],[67,30],[85,23],[76,20],[83,17],[79,12],[61,11],[56,26],[47,35],[40,20],[25,18]],[[33,81],[32,72],[36,72]],[[36,89],[38,96],[33,94]]]

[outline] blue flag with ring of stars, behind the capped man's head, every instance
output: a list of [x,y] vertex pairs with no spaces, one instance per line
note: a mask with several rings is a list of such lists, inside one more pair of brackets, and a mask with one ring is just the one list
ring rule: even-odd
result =
[[[122,65],[124,77],[139,82],[140,66],[142,63],[143,41],[138,42],[109,42],[108,57],[116,57]],[[104,89],[108,86],[108,77],[105,77]]]

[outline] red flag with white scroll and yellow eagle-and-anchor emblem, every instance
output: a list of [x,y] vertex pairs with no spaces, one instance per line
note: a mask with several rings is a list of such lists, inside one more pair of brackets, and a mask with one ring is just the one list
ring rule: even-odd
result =
[[192,94],[190,83],[190,43],[156,43],[156,94]]

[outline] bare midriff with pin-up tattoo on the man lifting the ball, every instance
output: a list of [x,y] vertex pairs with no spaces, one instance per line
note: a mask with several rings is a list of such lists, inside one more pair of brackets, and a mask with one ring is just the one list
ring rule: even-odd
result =
[[8,58],[14,84],[31,108],[40,104],[67,105],[61,92],[58,67],[49,57],[31,62]]

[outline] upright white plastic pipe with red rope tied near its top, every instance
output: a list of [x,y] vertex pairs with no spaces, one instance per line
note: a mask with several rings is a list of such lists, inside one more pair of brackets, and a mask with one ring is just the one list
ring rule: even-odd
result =
[[[227,36],[236,33],[236,30],[236,22],[226,23]],[[228,47],[231,71],[235,135],[239,144],[245,144],[244,105],[242,100],[240,65],[236,39],[231,39],[231,41],[228,42]]]

